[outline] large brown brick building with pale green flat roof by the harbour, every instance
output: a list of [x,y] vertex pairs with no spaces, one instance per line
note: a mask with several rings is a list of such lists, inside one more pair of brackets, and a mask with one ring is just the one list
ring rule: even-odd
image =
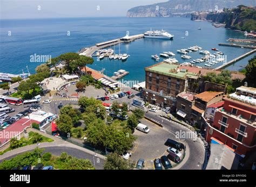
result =
[[176,105],[176,96],[188,87],[188,78],[198,78],[196,73],[165,62],[146,67],[145,74],[144,100],[161,107],[173,108]]

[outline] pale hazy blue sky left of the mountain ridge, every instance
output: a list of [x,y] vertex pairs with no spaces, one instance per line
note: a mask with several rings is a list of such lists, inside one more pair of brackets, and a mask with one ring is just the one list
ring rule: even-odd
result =
[[1,19],[119,17],[139,5],[167,0],[0,0]]

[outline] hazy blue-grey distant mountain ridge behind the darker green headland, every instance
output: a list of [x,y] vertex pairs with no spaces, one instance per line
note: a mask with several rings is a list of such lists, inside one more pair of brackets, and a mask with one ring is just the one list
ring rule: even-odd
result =
[[136,6],[127,11],[127,17],[190,16],[194,11],[235,8],[238,5],[256,6],[255,0],[169,0],[164,3]]

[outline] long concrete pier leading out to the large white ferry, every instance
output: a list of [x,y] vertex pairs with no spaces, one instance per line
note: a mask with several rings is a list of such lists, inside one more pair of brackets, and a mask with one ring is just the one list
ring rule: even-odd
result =
[[85,55],[85,56],[92,56],[92,54],[95,53],[96,51],[98,51],[99,49],[103,49],[103,48],[117,45],[117,44],[127,42],[127,41],[134,41],[134,40],[137,40],[137,39],[140,39],[143,37],[144,37],[143,34],[137,34],[137,35],[131,35],[131,36],[129,36],[129,39],[125,39],[125,40],[123,40],[123,38],[118,38],[118,39],[114,39],[114,40],[100,42],[98,44],[95,44],[95,46],[85,48],[84,52],[79,53],[79,54]]

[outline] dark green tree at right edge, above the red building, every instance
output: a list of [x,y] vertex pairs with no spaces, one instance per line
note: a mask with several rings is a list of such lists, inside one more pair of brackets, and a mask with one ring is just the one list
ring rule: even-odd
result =
[[248,87],[256,87],[256,56],[254,56],[245,67],[246,69],[246,81]]

